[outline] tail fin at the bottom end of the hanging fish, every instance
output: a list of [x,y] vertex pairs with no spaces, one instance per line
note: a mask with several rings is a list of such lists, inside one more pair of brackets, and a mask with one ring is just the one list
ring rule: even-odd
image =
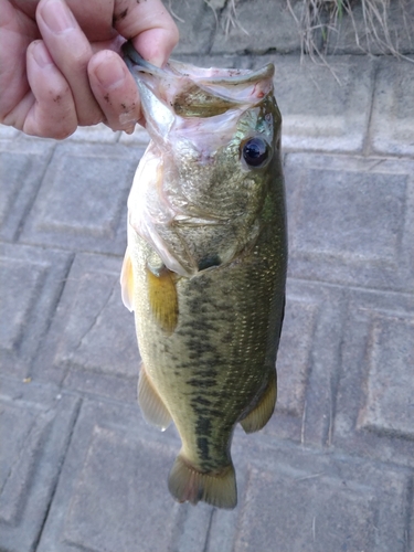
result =
[[168,488],[179,501],[197,505],[199,500],[217,508],[233,509],[237,505],[236,478],[233,465],[221,474],[198,471],[180,453],[168,477]]

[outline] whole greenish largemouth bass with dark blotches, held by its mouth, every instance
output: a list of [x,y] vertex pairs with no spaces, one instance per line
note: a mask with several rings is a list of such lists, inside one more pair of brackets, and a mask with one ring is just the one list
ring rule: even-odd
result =
[[151,138],[120,275],[138,402],[148,423],[180,435],[172,497],[233,509],[235,426],[262,429],[277,394],[287,235],[275,70],[159,68],[130,43],[124,59]]

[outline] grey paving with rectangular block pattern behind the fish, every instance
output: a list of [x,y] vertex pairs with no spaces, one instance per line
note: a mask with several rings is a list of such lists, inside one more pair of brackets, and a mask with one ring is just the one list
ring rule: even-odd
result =
[[276,414],[234,436],[232,512],[173,502],[178,437],[136,405],[118,275],[144,132],[0,128],[2,552],[414,550],[414,66],[338,56],[340,87],[296,55],[197,61],[268,60],[288,301]]

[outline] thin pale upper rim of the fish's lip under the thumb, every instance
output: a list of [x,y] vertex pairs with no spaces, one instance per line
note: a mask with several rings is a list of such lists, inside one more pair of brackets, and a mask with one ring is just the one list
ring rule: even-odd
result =
[[[123,44],[121,50],[124,61],[134,75],[139,72],[162,78],[168,74],[166,70],[157,67],[156,65],[152,65],[151,63],[144,60],[144,57],[141,57],[140,54],[135,50],[130,41]],[[205,84],[216,86],[241,86],[273,78],[275,74],[275,66],[273,63],[268,63],[267,65],[258,70],[216,70],[219,73],[221,71],[223,72],[222,75],[219,74],[217,76],[191,75],[187,72],[180,71],[180,67],[183,67],[184,65],[185,64],[174,60],[169,60],[167,64],[172,74],[174,74],[176,76],[188,77],[201,85]]]

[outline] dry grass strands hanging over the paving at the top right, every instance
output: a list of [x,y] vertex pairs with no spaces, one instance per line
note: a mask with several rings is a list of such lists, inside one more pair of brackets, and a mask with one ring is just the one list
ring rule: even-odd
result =
[[[217,12],[221,13],[221,25],[226,35],[232,28],[248,34],[237,17],[240,1],[204,0],[214,11],[217,25]],[[407,57],[407,52],[401,47],[402,43],[410,44],[408,53],[414,52],[414,0],[283,1],[298,26],[302,55],[329,68],[339,84],[327,54],[336,53],[335,44],[343,26],[348,29],[346,51],[357,49],[365,54],[394,55],[414,63],[413,56]],[[397,12],[396,17],[392,17],[392,10]]]

